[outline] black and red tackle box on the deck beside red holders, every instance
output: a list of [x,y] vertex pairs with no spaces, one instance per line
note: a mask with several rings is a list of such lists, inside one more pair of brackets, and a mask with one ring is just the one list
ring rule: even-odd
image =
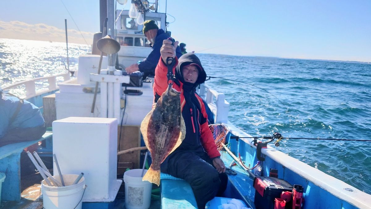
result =
[[254,179],[254,188],[256,209],[272,209],[275,206],[275,198],[280,198],[282,192],[292,192],[293,186],[283,179],[257,176]]

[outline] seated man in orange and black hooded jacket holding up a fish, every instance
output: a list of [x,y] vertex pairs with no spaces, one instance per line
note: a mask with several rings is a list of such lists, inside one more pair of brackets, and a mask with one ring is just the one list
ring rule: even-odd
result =
[[168,67],[165,63],[168,57],[172,57],[176,62],[173,88],[181,92],[182,116],[187,132],[182,144],[161,164],[161,172],[187,181],[200,209],[224,192],[228,177],[209,129],[204,103],[195,93],[196,87],[205,82],[206,72],[193,53],[184,54],[178,60],[175,56],[178,42],[171,43],[164,40],[160,49],[161,58],[155,69],[153,85],[155,102],[168,87]]

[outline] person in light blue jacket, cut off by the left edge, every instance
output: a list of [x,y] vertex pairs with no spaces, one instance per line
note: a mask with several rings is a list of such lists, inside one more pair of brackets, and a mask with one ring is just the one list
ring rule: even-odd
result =
[[0,89],[0,147],[39,139],[45,130],[38,107]]

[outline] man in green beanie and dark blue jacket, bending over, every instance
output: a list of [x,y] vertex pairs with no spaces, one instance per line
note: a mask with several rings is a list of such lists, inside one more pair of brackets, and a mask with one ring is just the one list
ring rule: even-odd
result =
[[[170,36],[165,33],[164,30],[158,29],[154,20],[146,20],[143,23],[143,34],[152,44],[152,52],[142,61],[139,61],[139,64],[132,64],[129,67],[125,68],[128,74],[131,74],[137,70],[145,73],[145,75],[154,75],[155,68],[160,60],[160,48],[162,46],[162,41],[169,38]],[[176,49],[177,57],[180,58],[182,52],[178,46]]]

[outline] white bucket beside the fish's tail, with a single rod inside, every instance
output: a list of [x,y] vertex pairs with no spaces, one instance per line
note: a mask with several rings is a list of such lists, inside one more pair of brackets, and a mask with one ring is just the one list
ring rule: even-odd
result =
[[[147,170],[144,170],[144,174]],[[152,183],[142,181],[142,169],[128,170],[124,173],[125,208],[148,209],[151,205]]]

